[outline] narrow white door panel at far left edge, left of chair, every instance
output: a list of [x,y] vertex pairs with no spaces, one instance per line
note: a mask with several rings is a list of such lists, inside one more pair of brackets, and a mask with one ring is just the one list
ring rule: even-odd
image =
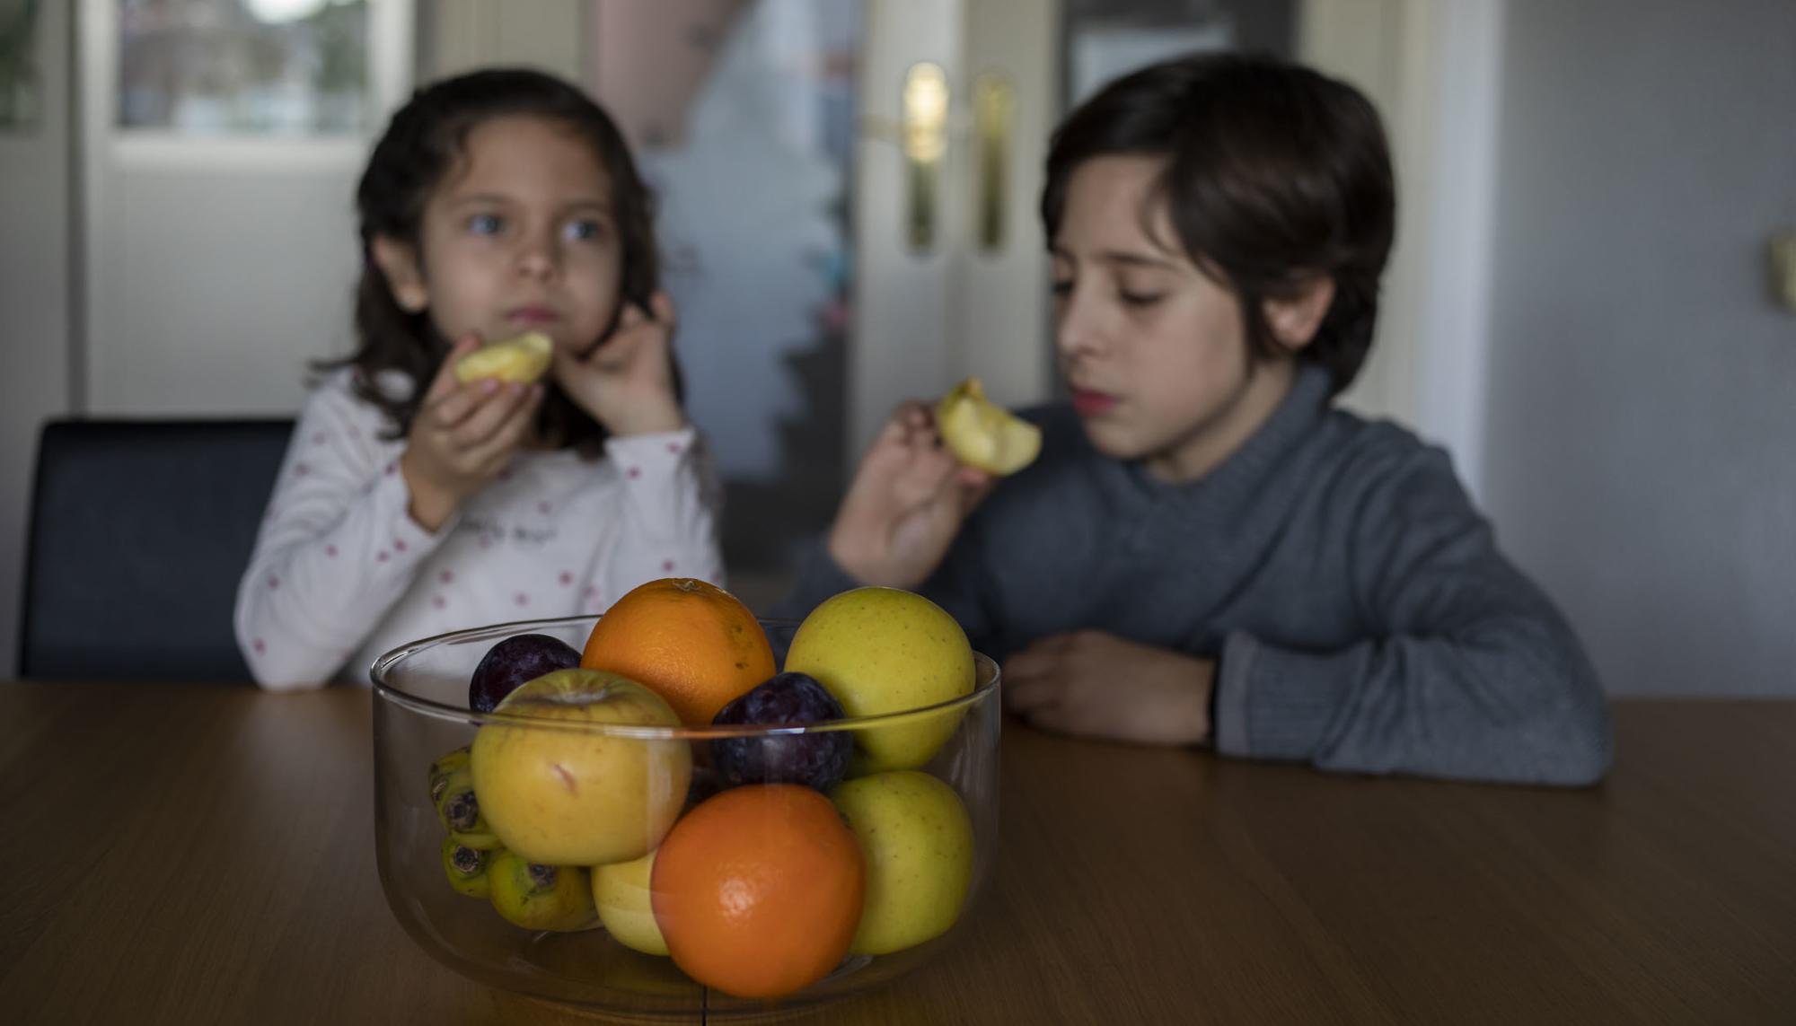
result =
[[68,5],[40,18],[43,120],[0,131],[0,676],[16,665],[38,425],[68,409]]

